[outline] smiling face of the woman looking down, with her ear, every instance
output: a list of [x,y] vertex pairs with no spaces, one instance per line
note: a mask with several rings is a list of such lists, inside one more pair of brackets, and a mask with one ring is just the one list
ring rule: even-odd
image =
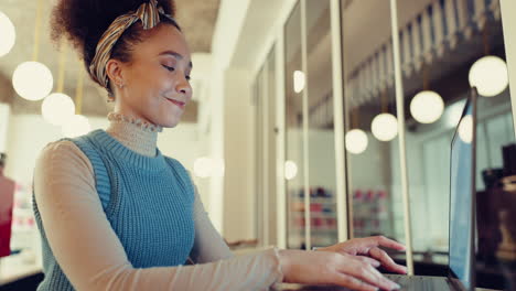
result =
[[[172,128],[192,99],[190,50],[183,34],[173,25],[162,23],[147,34],[143,42],[132,46],[131,62],[108,62],[115,110]],[[121,88],[117,84],[122,84]]]

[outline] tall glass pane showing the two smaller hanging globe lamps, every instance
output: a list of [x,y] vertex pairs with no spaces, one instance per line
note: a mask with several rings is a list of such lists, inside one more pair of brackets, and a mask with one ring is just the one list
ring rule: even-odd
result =
[[[404,241],[389,2],[342,2],[351,234]],[[368,17],[364,17],[368,15]]]

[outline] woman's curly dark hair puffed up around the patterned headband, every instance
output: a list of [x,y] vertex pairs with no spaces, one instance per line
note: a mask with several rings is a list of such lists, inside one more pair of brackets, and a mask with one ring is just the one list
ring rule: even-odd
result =
[[[84,60],[84,65],[89,74],[89,65],[95,56],[97,43],[104,32],[116,18],[136,11],[141,3],[149,0],[58,0],[51,15],[51,39],[58,43],[62,37],[69,41]],[[175,15],[173,0],[158,0],[164,12]],[[161,23],[169,23],[181,31],[179,24],[166,17],[160,17]],[[131,61],[131,47],[138,42],[144,41],[141,22],[132,24],[115,44],[111,57],[120,62]],[[110,86],[107,88],[112,95]]]

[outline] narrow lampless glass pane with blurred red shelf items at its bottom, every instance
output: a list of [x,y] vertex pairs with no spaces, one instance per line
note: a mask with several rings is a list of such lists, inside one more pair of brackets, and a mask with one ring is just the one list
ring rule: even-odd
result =
[[337,242],[330,0],[308,0],[307,99],[311,246]]

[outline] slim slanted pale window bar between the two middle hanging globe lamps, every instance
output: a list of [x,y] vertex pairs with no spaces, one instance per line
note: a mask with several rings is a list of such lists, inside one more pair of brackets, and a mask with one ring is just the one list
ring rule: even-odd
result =
[[399,55],[399,34],[398,34],[398,7],[397,0],[390,0],[391,15],[391,33],[393,33],[393,52],[395,66],[395,85],[396,85],[396,108],[398,116],[398,134],[399,134],[399,158],[401,165],[401,194],[404,198],[404,218],[405,218],[405,240],[407,246],[407,267],[408,273],[413,274],[412,260],[412,234],[410,220],[410,200],[408,192],[408,173],[407,173],[407,149],[405,139],[405,104],[404,104],[404,83],[401,78],[401,64]]

